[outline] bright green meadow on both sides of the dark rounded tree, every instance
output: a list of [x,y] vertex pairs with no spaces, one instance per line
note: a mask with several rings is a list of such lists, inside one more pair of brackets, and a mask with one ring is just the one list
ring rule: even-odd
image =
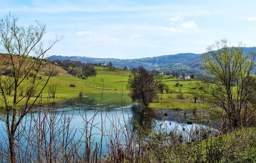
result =
[[[61,76],[52,76],[42,92],[43,100],[58,101],[62,99],[68,99],[71,97],[79,96],[80,92],[84,93],[97,93],[97,92],[126,92],[128,76],[130,71],[122,69],[109,69],[108,67],[95,66],[97,70],[96,77],[88,77],[87,79],[81,79],[77,77],[61,77]],[[38,80],[40,83],[38,85],[38,90],[40,90],[48,76],[44,76],[44,73],[40,73],[42,79]],[[28,83],[28,79],[25,79],[24,82]],[[202,101],[197,100],[197,103],[194,103],[193,97],[189,92],[191,87],[195,84],[195,81],[191,79],[177,79],[170,78],[169,76],[163,75],[163,82],[170,87],[172,93],[158,94],[159,97],[150,104],[152,108],[171,108],[171,109],[200,109],[206,107],[206,104]],[[182,86],[176,87],[175,84],[179,82]],[[49,93],[49,86],[57,84],[55,98],[51,97],[52,94]],[[70,87],[70,84],[75,84],[76,87]],[[177,99],[177,94],[182,93],[184,99]],[[7,96],[10,101],[13,100],[13,93]],[[32,97],[31,100],[35,99]],[[22,104],[24,100],[20,101]],[[11,105],[11,104],[10,104]]]

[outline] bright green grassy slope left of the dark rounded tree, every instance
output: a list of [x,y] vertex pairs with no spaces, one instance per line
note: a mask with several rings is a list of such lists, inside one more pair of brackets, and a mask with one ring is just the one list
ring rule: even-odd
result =
[[[58,101],[62,99],[68,99],[71,97],[77,97],[79,96],[80,92],[84,93],[96,93],[96,92],[102,92],[103,86],[103,92],[127,92],[126,90],[126,84],[128,80],[128,76],[130,74],[130,71],[122,70],[122,69],[116,69],[111,70],[108,67],[95,67],[97,70],[96,77],[88,77],[88,79],[81,79],[73,76],[69,77],[62,77],[62,76],[52,76],[50,77],[50,80],[46,87],[44,88],[42,92],[42,97],[44,100],[50,101]],[[42,76],[42,79],[38,79],[38,90],[41,90],[43,88],[48,76],[45,76],[44,73],[39,73],[39,75]],[[23,83],[29,83],[29,79],[25,78]],[[49,97],[52,96],[51,93],[49,93],[49,87],[50,85],[57,84],[57,89],[55,93],[55,99],[49,98],[47,99],[48,95]],[[70,84],[75,84],[76,87],[71,87]],[[37,92],[38,93],[38,92]],[[11,95],[7,95],[7,98],[9,101],[13,101],[13,92]],[[35,97],[31,98],[31,101],[35,99]],[[20,101],[20,104],[24,103],[24,99]],[[10,103],[11,105],[12,103]],[[1,104],[3,105],[3,104]]]

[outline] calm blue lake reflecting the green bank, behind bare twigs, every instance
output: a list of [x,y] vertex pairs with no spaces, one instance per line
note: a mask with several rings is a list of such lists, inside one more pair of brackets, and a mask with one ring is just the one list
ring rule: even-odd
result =
[[[52,132],[60,131],[65,123],[71,136],[70,139],[68,138],[69,140],[74,139],[79,140],[79,142],[90,140],[92,146],[95,146],[96,142],[100,144],[102,140],[102,151],[105,153],[108,152],[107,145],[110,141],[113,139],[124,140],[125,137],[129,136],[129,133],[137,130],[138,126],[140,130],[154,128],[154,130],[160,131],[168,129],[168,132],[173,131],[182,135],[182,137],[187,137],[185,140],[188,141],[190,140],[189,133],[191,133],[191,129],[194,130],[199,126],[191,123],[187,124],[190,122],[189,117],[192,116],[189,111],[141,108],[138,104],[131,102],[127,93],[85,93],[83,97],[64,99],[52,104],[51,107],[55,108],[53,115],[56,115],[56,118],[54,119],[52,115],[46,116],[49,121],[47,120],[47,123],[45,123],[46,126],[42,126],[47,134],[50,134],[49,130],[52,130]],[[27,122],[23,122],[22,125],[27,129],[31,128],[30,126],[33,127],[30,132],[26,131],[25,134],[21,132],[20,135],[28,136],[33,135],[33,133],[36,135],[41,132],[36,128],[38,128],[37,123],[41,125],[41,122],[43,122],[41,116],[43,116],[44,109],[41,110],[39,116],[39,109],[35,107],[32,120],[31,115],[27,115],[24,119]],[[67,123],[67,121],[70,121],[70,123]],[[53,125],[53,122],[56,125]],[[0,131],[3,137],[6,137],[4,122],[1,121],[0,125],[2,126]],[[54,128],[51,126],[54,126]],[[46,141],[50,138],[47,134],[45,136]],[[56,139],[62,139],[64,135],[68,134],[63,132]],[[20,141],[26,144],[27,140],[21,138]]]

